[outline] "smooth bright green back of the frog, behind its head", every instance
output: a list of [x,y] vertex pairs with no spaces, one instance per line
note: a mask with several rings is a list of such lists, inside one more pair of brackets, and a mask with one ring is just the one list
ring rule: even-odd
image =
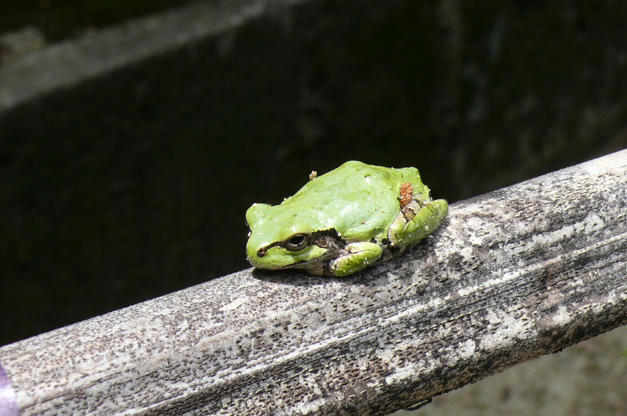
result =
[[421,192],[423,185],[416,168],[350,161],[310,180],[282,205],[304,207],[299,217],[308,217],[312,227],[344,230],[347,239],[384,238],[399,212],[399,187],[404,182],[411,182],[414,192]]

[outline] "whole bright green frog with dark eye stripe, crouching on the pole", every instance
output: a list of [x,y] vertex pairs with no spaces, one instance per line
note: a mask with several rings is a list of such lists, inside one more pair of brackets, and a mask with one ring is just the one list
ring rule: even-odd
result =
[[346,162],[314,177],[280,205],[253,204],[246,254],[260,269],[348,276],[401,254],[448,213],[418,169]]

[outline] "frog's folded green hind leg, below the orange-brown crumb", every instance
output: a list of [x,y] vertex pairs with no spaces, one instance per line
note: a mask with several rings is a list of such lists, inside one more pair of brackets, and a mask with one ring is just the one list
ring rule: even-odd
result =
[[435,231],[448,213],[446,199],[423,201],[414,195],[392,223],[387,237],[396,247],[407,247]]

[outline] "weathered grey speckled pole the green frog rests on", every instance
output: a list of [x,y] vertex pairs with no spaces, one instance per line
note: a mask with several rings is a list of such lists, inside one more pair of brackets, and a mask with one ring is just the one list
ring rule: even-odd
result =
[[249,269],[0,360],[22,415],[386,415],[626,322],[623,150],[453,204],[349,278]]

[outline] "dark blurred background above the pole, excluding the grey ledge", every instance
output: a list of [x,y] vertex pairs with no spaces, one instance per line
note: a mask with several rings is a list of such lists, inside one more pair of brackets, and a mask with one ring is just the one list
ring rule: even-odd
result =
[[[184,3],[4,4],[0,69]],[[627,2],[271,3],[0,112],[0,345],[250,267],[246,209],[311,170],[455,202],[627,147]]]

